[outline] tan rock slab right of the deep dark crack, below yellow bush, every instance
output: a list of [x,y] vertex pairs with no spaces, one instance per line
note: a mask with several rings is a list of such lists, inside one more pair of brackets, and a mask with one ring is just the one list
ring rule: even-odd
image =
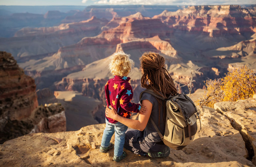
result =
[[247,158],[256,165],[256,98],[236,102],[218,102],[214,108],[225,115],[234,129],[238,130],[248,151]]

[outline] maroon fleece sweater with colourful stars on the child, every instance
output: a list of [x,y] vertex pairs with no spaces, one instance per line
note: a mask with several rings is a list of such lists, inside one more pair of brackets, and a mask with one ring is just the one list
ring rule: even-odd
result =
[[[118,115],[125,118],[131,117],[131,112],[139,112],[140,104],[132,103],[133,91],[128,82],[131,78],[126,76],[114,76],[105,85],[105,95],[107,105],[116,109]],[[106,115],[105,115],[106,117]],[[106,117],[110,123],[118,121]]]

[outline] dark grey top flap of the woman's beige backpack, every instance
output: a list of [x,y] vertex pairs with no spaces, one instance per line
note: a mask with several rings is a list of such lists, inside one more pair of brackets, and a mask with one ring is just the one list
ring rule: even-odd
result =
[[185,93],[170,97],[169,100],[172,100],[179,107],[185,121],[188,121],[197,112],[193,101]]

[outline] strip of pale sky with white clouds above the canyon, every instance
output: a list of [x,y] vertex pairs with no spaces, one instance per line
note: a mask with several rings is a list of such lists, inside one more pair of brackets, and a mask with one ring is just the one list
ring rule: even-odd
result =
[[0,5],[217,5],[255,4],[255,0],[0,0]]

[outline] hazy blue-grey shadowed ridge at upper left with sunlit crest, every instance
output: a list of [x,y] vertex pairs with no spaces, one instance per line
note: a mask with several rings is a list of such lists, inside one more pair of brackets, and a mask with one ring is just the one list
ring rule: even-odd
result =
[[77,43],[85,36],[98,35],[107,23],[108,20],[93,16],[85,21],[55,27],[23,28],[14,37],[1,39],[0,50],[11,52],[19,62],[31,58],[37,60],[57,52],[62,46]]

